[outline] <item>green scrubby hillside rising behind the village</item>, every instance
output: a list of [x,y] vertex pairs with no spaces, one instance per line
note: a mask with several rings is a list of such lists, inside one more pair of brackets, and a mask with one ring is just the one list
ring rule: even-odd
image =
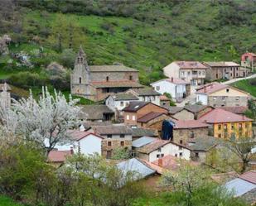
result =
[[256,46],[253,0],[1,0],[0,10],[0,33],[12,38],[2,78],[24,70],[14,54],[38,73],[51,61],[72,67],[82,45],[90,65],[123,63],[148,84],[172,60],[239,61]]

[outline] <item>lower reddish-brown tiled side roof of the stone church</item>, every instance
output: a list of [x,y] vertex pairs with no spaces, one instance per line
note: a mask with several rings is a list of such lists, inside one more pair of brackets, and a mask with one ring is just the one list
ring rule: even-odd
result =
[[142,88],[142,84],[138,84],[138,82],[134,81],[94,81],[91,82],[94,88]]

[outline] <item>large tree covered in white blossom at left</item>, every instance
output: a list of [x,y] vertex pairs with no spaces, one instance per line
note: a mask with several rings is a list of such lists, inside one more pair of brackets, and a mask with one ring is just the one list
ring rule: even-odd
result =
[[70,141],[68,130],[79,126],[79,99],[66,101],[57,93],[52,96],[47,88],[42,89],[38,102],[32,94],[29,98],[12,100],[10,109],[1,111],[2,126],[8,132],[22,136],[26,141],[36,141],[48,154],[56,144]]

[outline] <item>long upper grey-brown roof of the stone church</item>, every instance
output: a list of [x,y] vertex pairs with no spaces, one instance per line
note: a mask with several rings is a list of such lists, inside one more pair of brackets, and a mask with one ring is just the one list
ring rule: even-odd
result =
[[125,65],[89,65],[91,72],[138,72]]

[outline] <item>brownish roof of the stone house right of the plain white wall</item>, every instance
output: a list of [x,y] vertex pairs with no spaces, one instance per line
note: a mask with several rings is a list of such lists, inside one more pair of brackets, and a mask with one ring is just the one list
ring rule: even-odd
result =
[[93,127],[95,133],[99,135],[119,135],[119,134],[130,134],[132,135],[133,130],[128,126],[123,125],[112,125],[112,126],[96,126]]

